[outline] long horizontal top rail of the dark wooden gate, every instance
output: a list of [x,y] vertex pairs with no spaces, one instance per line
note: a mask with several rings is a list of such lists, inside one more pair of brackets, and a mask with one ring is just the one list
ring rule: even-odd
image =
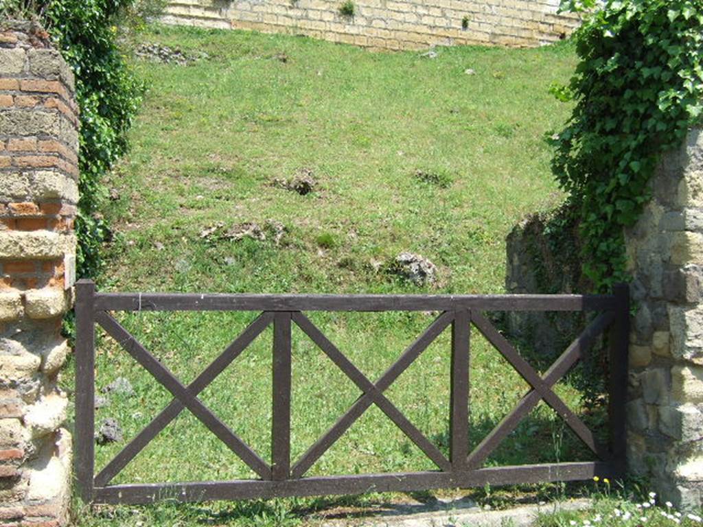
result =
[[611,311],[610,294],[96,293],[96,311]]

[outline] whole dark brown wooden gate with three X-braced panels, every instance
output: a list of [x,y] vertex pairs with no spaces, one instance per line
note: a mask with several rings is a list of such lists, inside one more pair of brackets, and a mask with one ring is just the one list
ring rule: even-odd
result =
[[[100,293],[93,282],[77,287],[75,473],[86,501],[145,503],[237,500],[305,495],[356,494],[391,490],[427,490],[471,486],[575,481],[594,476],[618,478],[625,468],[625,402],[628,353],[628,287],[612,295],[292,295],[292,294],[153,294]],[[183,385],[110,311],[254,311],[261,314],[188,386]],[[375,382],[368,379],[304,315],[305,311],[439,311],[427,330]],[[483,311],[596,311],[579,337],[539,375]],[[98,474],[94,471],[95,325],[100,325],[173,396],[164,408]],[[204,390],[266,327],[273,324],[273,419],[271,464],[246,445],[200,400]],[[362,395],[299,460],[290,458],[291,326],[297,325],[359,387]],[[451,326],[450,454],[447,459],[383,394],[413,361]],[[470,329],[475,327],[529,383],[530,391],[491,433],[469,451]],[[581,419],[554,393],[553,386],[610,329],[609,444],[600,444]],[[529,411],[545,401],[598,457],[595,462],[531,464],[482,468],[505,436]],[[427,457],[436,471],[354,476],[305,474],[325,450],[376,405]],[[110,485],[110,481],[162,429],[187,409],[240,457],[260,479]]]

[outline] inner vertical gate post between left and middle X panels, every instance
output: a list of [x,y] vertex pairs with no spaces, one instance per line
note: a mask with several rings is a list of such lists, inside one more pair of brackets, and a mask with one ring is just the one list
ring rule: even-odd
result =
[[273,417],[271,422],[271,477],[290,477],[290,313],[273,317]]

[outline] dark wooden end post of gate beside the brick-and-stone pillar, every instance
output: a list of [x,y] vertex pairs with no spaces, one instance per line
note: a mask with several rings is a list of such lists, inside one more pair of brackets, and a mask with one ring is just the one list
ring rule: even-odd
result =
[[75,474],[80,496],[93,498],[95,434],[95,284],[79,280],[76,284],[76,430]]

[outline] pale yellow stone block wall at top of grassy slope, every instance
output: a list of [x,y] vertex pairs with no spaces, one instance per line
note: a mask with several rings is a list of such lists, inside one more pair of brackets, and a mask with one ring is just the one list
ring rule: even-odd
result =
[[538,46],[567,37],[579,24],[557,14],[559,0],[170,0],[172,24],[305,34],[371,48],[417,49],[453,44]]

